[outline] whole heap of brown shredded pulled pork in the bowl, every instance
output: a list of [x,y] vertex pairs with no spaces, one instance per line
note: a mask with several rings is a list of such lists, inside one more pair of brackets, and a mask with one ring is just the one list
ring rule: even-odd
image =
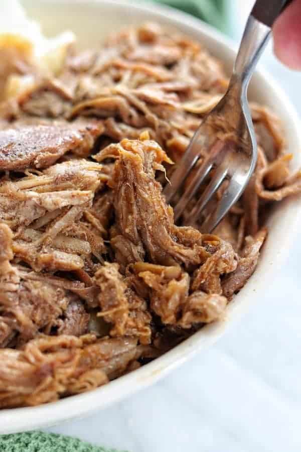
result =
[[244,195],[214,234],[174,223],[163,185],[228,84],[175,31],[144,24],[32,75],[0,108],[3,408],[96,388],[224,318],[256,268],[267,204],[301,191],[278,119],[252,104]]

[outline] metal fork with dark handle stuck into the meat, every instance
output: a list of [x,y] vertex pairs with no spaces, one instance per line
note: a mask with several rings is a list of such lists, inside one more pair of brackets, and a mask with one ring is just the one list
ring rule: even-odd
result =
[[[256,165],[257,144],[247,101],[247,87],[271,34],[275,19],[291,0],[257,0],[247,20],[226,94],[203,119],[179,167],[164,189],[168,203],[181,189],[174,206],[177,221],[212,170],[210,183],[185,218],[185,224],[202,221],[202,232],[211,232],[246,187]],[[191,171],[189,180],[186,180]],[[219,201],[213,200],[221,184],[228,186]],[[187,186],[186,186],[187,185]],[[225,184],[226,185],[226,184]],[[202,218],[201,218],[202,214]]]

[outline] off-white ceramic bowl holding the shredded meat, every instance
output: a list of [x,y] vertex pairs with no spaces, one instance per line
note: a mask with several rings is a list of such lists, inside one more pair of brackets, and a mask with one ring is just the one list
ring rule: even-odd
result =
[[[213,55],[225,62],[229,72],[232,67],[235,51],[229,40],[202,22],[168,8],[112,0],[23,0],[22,3],[30,16],[42,24],[46,34],[51,36],[71,29],[83,47],[96,46],[108,33],[123,26],[151,20],[176,26],[201,41]],[[253,77],[249,97],[270,106],[282,118],[289,151],[294,153],[293,166],[301,166],[300,125],[296,112],[282,89],[270,76],[258,71]],[[226,320],[202,328],[161,358],[99,389],[38,407],[2,410],[0,433],[51,426],[66,419],[84,416],[155,383],[192,355],[201,353],[240,317],[249,303],[255,303],[258,297],[261,297],[262,302],[264,291],[272,284],[275,276],[279,275],[285,255],[296,238],[298,211],[301,212],[300,197],[277,204],[269,218],[270,233],[257,269],[247,285],[230,303]]]

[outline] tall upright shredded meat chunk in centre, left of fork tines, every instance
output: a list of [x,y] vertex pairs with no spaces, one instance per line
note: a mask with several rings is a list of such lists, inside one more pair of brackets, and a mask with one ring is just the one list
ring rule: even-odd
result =
[[[162,187],[155,180],[155,171],[164,170],[162,162],[170,163],[160,146],[148,140],[122,140],[95,158],[101,161],[114,155],[118,159],[109,185],[114,191],[120,234],[134,246],[142,245],[154,263],[182,262],[189,266],[204,262],[208,253],[202,246],[201,234],[174,224],[173,210],[166,205]],[[132,263],[130,256],[128,263]]]

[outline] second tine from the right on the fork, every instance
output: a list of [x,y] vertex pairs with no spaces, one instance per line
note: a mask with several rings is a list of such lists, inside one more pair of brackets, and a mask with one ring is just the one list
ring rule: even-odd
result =
[[229,170],[229,161],[226,159],[220,166],[216,168],[216,173],[212,180],[210,181],[208,187],[190,212],[188,218],[185,220],[187,224],[193,224],[195,220],[199,217],[201,211],[206,207],[210,201],[212,195],[220,187],[221,183],[225,179]]

